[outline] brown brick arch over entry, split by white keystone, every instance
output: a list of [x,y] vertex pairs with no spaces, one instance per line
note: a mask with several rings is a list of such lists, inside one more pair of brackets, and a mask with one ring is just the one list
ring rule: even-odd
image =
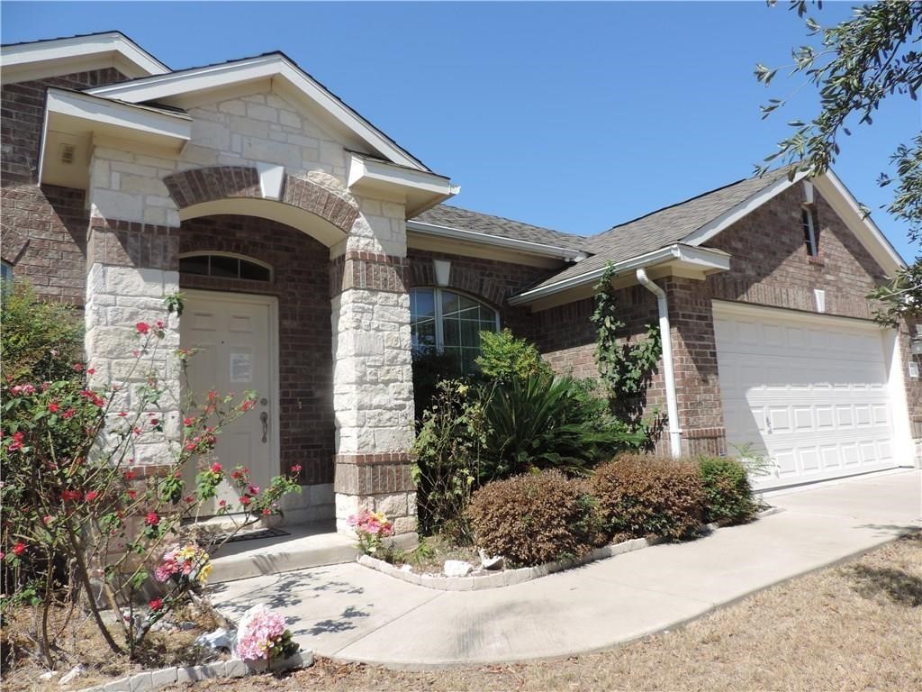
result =
[[347,234],[359,216],[358,203],[348,192],[331,190],[311,177],[286,174],[279,197],[266,197],[254,166],[194,168],[167,175],[163,184],[180,210],[222,199],[268,200],[307,211]]

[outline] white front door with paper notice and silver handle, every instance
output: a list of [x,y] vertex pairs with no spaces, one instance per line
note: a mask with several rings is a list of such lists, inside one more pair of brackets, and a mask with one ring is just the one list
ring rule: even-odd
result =
[[[236,397],[253,389],[255,408],[226,426],[218,435],[217,460],[228,473],[236,466],[250,469],[254,485],[265,488],[278,474],[278,413],[275,383],[276,299],[268,296],[225,292],[187,292],[180,320],[183,349],[195,349],[189,361],[183,394],[193,394],[198,406],[207,403],[207,393]],[[214,459],[210,459],[211,463]],[[188,464],[184,480],[195,485],[200,471]],[[238,507],[238,495],[228,482],[221,483],[218,498],[203,507],[213,514],[216,503],[225,500]]]

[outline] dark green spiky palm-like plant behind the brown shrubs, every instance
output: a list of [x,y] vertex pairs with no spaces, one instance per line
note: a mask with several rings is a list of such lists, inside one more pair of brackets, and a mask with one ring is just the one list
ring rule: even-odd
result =
[[636,447],[632,434],[571,377],[529,375],[485,389],[481,480],[534,469],[585,474],[599,459]]

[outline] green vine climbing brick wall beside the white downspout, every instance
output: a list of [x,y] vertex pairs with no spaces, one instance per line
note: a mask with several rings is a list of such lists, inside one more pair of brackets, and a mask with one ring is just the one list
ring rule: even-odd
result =
[[617,271],[609,263],[596,286],[596,310],[592,323],[596,327],[596,362],[602,382],[608,391],[612,411],[627,423],[652,433],[657,413],[644,418],[646,389],[659,356],[662,340],[659,328],[646,325],[646,334],[639,340],[630,337],[619,341],[625,324],[618,316],[616,289],[612,283]]

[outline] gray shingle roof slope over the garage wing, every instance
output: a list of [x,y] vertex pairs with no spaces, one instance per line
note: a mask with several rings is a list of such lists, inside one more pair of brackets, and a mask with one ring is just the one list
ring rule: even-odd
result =
[[698,197],[658,209],[633,221],[621,223],[605,233],[590,236],[585,239],[587,245],[582,249],[592,253],[592,257],[586,257],[581,262],[563,269],[535,288],[572,279],[594,269],[603,268],[609,262],[619,262],[680,243],[691,233],[774,184],[786,174],[787,168],[779,168],[765,173],[761,178],[739,180]]

